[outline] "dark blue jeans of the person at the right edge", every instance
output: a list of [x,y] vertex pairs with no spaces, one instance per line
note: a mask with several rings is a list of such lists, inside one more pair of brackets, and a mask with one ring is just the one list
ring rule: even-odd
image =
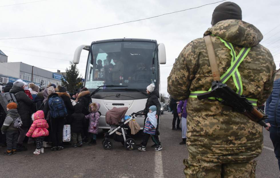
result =
[[269,127],[269,135],[273,143],[275,156],[278,159],[278,166],[280,171],[280,127]]

